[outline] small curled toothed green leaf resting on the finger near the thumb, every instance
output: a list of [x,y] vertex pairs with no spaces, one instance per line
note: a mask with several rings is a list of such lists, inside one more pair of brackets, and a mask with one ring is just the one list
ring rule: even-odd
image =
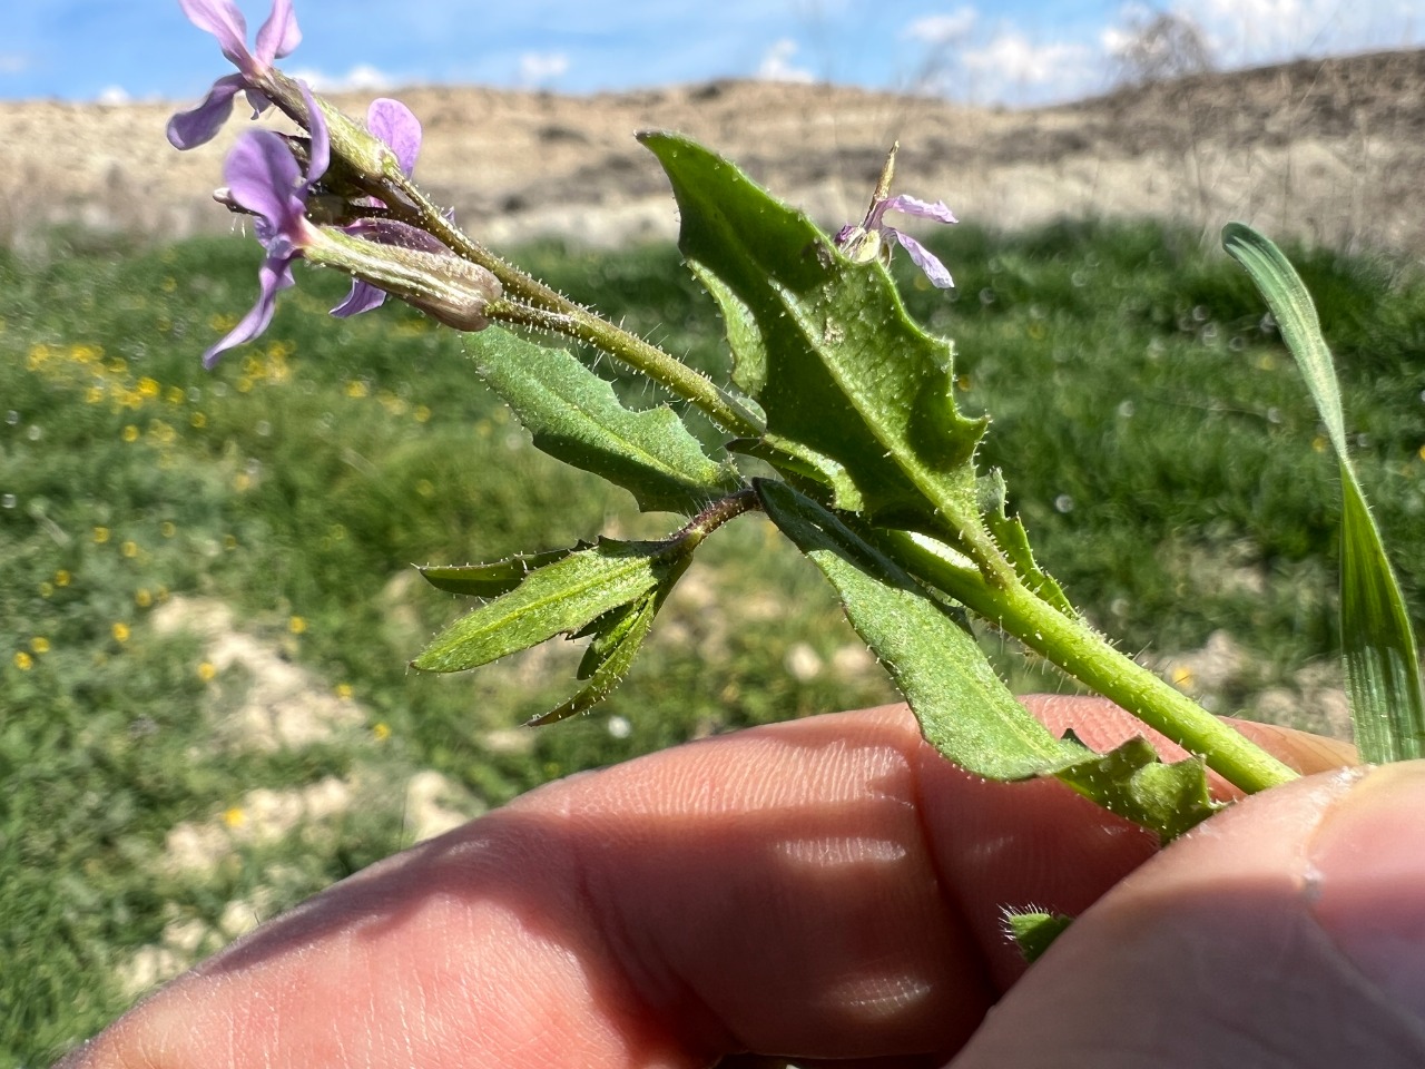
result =
[[1171,842],[1223,808],[1213,801],[1201,758],[1163,764],[1141,735],[1060,768],[1054,777],[1109,812],[1156,832],[1160,842]]

